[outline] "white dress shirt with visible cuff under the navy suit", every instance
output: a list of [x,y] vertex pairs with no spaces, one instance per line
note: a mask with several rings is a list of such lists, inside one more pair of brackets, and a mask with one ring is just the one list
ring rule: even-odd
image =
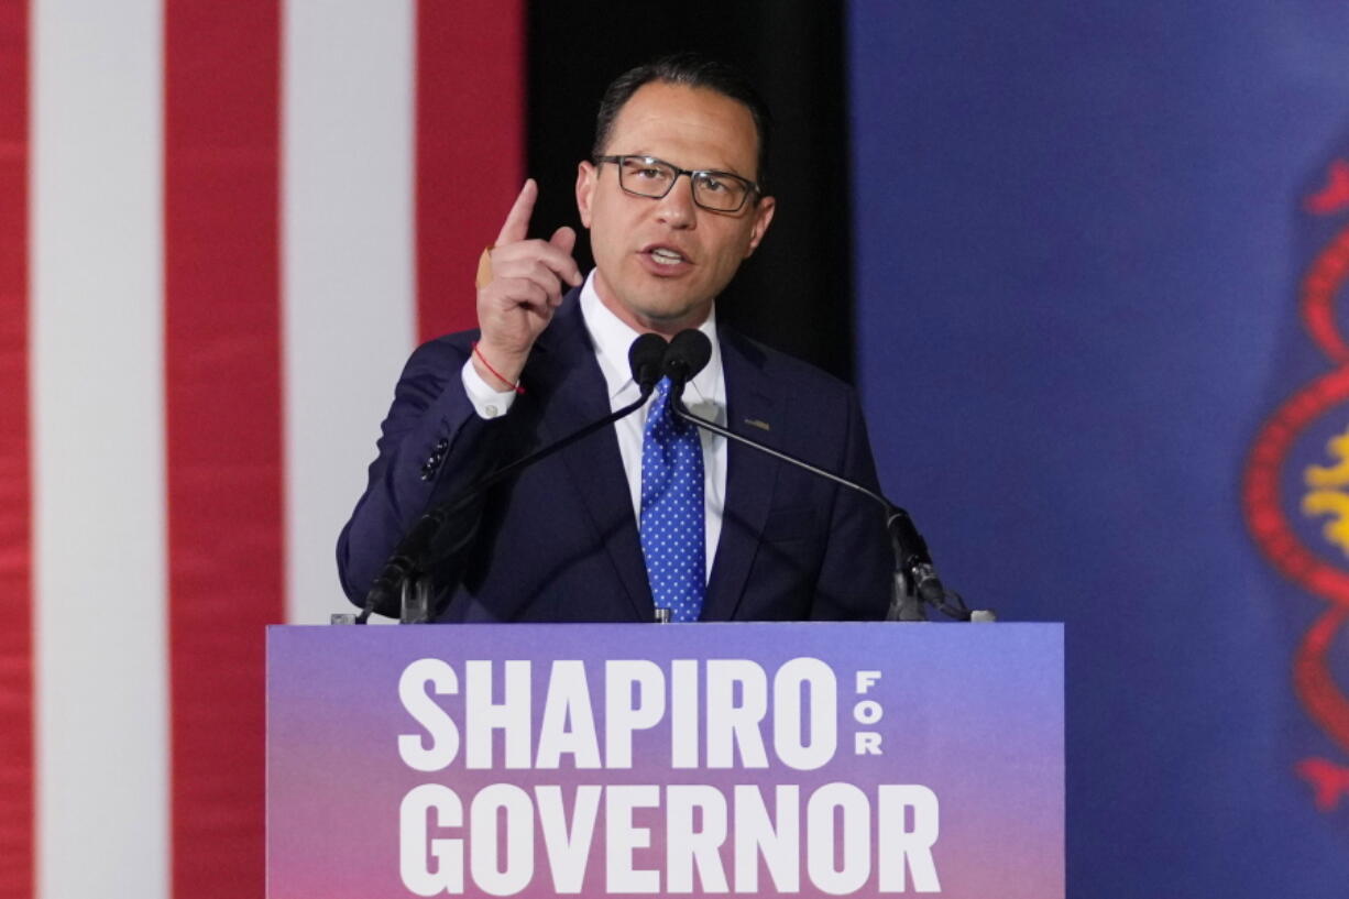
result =
[[[585,331],[590,332],[591,343],[595,344],[595,359],[604,374],[610,409],[618,410],[641,396],[627,364],[627,348],[633,340],[637,340],[639,332],[629,328],[604,306],[595,292],[594,271],[585,278],[585,285],[581,288],[581,317],[585,320]],[[707,321],[699,325],[699,331],[712,342],[712,358],[707,367],[688,382],[688,387],[684,390],[684,405],[693,414],[711,418],[724,427],[726,377],[722,371],[722,348],[716,342],[715,309],[707,316]],[[484,418],[506,414],[515,400],[514,391],[498,391],[483,381],[478,370],[473,369],[472,359],[464,363],[463,381],[469,402]],[[614,425],[618,435],[618,451],[623,458],[623,471],[627,474],[627,487],[633,497],[633,514],[638,522],[642,520],[642,440],[650,406],[652,404],[648,402],[646,406]],[[712,560],[716,556],[716,543],[722,536],[722,513],[726,509],[726,439],[703,429],[699,429],[699,436],[703,441],[703,532],[707,540],[706,562],[710,578]]]

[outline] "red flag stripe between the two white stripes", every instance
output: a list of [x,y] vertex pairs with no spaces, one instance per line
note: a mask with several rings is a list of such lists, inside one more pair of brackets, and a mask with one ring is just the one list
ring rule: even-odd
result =
[[165,9],[173,890],[263,895],[263,625],[285,620],[281,11]]

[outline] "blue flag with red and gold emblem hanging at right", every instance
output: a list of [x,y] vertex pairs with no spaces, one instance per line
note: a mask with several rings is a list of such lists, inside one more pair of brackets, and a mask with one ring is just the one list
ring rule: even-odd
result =
[[1349,7],[850,19],[871,439],[1067,622],[1068,894],[1344,895]]

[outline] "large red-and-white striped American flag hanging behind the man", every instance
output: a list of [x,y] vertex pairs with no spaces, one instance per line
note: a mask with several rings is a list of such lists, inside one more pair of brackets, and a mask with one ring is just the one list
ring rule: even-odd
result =
[[472,321],[521,5],[0,0],[0,899],[262,895],[263,629]]

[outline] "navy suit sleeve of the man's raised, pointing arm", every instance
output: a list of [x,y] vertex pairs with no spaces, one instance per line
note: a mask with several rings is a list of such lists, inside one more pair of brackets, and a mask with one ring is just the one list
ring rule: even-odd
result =
[[[394,390],[366,491],[337,539],[337,572],[356,605],[407,529],[434,505],[463,495],[492,466],[505,418],[479,417],[464,390],[460,373],[471,336],[420,347]],[[469,513],[452,524],[471,529],[475,522]]]

